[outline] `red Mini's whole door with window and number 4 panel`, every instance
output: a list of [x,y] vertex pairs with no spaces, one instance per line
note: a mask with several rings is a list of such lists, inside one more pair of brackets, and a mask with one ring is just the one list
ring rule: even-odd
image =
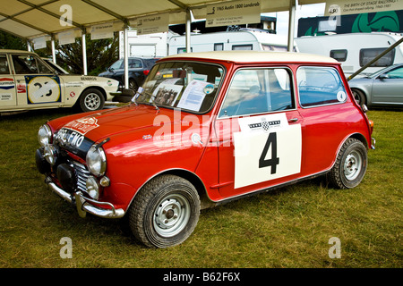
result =
[[224,198],[298,177],[303,120],[291,74],[287,67],[236,71],[214,122]]

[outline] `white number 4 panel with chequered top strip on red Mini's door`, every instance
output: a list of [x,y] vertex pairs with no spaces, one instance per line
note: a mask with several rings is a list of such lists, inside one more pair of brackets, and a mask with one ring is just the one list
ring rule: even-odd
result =
[[235,188],[301,172],[301,125],[286,114],[239,118],[234,133]]

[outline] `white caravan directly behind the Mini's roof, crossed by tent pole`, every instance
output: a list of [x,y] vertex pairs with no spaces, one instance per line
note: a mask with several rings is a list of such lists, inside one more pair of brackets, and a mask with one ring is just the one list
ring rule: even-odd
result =
[[[169,39],[168,55],[186,51],[184,36]],[[287,51],[287,37],[271,34],[263,29],[240,29],[207,34],[192,34],[192,52],[228,50]]]

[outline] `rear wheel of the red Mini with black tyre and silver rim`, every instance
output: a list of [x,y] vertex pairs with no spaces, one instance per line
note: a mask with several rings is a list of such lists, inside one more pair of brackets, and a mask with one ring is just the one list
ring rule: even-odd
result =
[[354,188],[363,180],[367,164],[367,152],[363,142],[353,138],[347,139],[330,170],[330,182],[339,189]]

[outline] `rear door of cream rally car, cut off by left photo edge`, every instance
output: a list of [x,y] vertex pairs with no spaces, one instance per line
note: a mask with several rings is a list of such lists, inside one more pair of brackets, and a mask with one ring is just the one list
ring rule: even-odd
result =
[[0,110],[10,110],[17,105],[16,85],[6,54],[0,54]]

